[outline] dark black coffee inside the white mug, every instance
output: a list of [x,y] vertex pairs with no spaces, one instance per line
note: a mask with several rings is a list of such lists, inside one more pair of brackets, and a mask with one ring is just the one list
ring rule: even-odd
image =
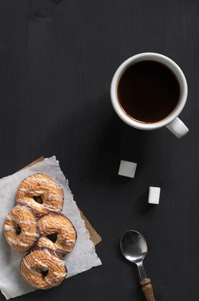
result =
[[131,118],[153,123],[166,118],[177,106],[180,85],[173,72],[155,61],[131,65],[121,75],[117,97]]

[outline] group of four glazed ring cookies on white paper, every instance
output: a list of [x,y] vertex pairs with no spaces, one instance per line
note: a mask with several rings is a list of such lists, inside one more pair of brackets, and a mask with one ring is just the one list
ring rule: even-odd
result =
[[28,252],[20,270],[32,286],[42,289],[59,285],[67,275],[63,256],[73,249],[77,232],[61,213],[64,192],[48,176],[35,174],[17,190],[17,206],[4,221],[9,245],[17,252]]

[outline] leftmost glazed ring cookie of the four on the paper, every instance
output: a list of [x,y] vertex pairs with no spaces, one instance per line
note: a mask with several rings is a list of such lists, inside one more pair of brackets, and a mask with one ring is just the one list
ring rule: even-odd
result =
[[29,251],[40,237],[35,212],[26,205],[17,205],[4,221],[4,233],[14,250],[20,253]]

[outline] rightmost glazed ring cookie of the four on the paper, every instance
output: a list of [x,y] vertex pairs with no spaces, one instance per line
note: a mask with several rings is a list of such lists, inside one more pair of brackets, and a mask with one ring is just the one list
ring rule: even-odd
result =
[[38,226],[41,234],[39,247],[49,247],[65,256],[76,244],[77,232],[71,221],[62,213],[40,216]]

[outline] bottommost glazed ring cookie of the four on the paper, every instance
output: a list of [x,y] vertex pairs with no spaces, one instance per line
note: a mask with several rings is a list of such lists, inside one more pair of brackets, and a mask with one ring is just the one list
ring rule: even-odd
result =
[[47,289],[59,285],[67,275],[64,258],[49,248],[35,248],[20,264],[23,278],[32,286]]

